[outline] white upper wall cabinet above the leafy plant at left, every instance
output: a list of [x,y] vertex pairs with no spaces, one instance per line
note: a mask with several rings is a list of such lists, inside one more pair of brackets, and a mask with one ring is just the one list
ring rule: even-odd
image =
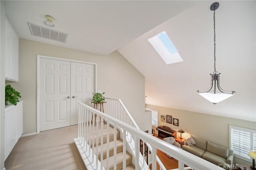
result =
[[18,81],[19,38],[5,18],[5,79]]

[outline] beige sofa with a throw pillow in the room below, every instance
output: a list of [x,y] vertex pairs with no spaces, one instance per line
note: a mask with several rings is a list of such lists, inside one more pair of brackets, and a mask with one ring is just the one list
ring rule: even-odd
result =
[[192,136],[192,138],[196,144],[188,146],[185,141],[182,146],[183,150],[186,150],[222,168],[231,167],[233,165],[234,152],[232,150],[194,136]]

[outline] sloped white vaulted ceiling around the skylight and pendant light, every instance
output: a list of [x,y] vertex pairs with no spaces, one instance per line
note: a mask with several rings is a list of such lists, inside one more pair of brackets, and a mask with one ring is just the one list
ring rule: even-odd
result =
[[[236,93],[213,105],[196,92],[208,89],[213,72],[211,4],[198,3],[118,51],[145,76],[148,104],[256,121],[255,1],[220,1],[216,10],[216,69],[221,73],[220,86]],[[163,31],[183,62],[166,65],[148,42]]]

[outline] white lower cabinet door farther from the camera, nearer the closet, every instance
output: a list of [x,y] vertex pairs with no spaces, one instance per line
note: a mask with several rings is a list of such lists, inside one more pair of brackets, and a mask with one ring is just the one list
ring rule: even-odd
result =
[[23,133],[23,105],[22,103],[16,107],[16,142]]

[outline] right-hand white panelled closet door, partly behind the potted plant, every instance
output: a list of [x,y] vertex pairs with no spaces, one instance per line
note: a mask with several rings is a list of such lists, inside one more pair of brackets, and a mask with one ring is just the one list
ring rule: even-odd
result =
[[91,104],[94,65],[71,62],[71,125],[78,124],[78,103]]

